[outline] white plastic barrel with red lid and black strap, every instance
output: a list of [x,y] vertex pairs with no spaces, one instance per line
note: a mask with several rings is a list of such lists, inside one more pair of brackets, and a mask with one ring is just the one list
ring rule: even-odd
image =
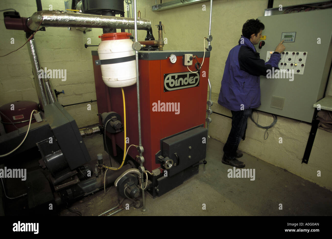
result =
[[102,40],[98,47],[99,63],[103,81],[108,87],[125,87],[136,83],[135,51],[130,35],[128,32],[117,32],[99,36]]

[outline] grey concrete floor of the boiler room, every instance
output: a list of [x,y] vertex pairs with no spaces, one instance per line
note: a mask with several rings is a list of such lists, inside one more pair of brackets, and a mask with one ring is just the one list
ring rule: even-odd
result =
[[[104,162],[109,163],[101,135],[85,138],[84,142],[92,164],[97,153],[103,153]],[[246,153],[240,160],[246,168],[255,169],[255,180],[228,178],[227,170],[233,167],[221,163],[222,147],[221,142],[208,139],[205,172],[202,164],[198,175],[161,197],[153,199],[145,194],[146,212],[131,207],[116,215],[332,215],[331,191]],[[82,215],[99,215],[115,207],[117,197],[113,186],[106,195],[99,191],[72,204],[70,209]],[[63,208],[60,215],[77,214]]]

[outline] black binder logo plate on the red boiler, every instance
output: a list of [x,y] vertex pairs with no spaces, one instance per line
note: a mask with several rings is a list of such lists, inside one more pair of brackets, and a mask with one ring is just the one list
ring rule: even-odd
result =
[[180,72],[164,74],[164,92],[180,90],[200,85],[200,72]]

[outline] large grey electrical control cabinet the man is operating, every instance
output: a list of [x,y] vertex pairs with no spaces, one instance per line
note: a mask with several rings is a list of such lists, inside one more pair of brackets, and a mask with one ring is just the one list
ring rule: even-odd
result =
[[260,77],[258,110],[305,122],[312,121],[313,104],[324,97],[332,61],[332,9],[258,18],[265,45],[257,49],[268,61],[281,40],[286,49],[280,70]]

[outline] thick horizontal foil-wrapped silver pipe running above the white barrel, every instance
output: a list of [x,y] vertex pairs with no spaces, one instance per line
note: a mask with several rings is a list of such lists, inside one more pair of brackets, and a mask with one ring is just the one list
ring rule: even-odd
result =
[[[42,22],[41,22],[42,21]],[[111,28],[134,29],[133,18],[99,16],[92,14],[66,13],[59,10],[43,10],[35,12],[29,19],[27,26],[31,30],[37,30],[39,24],[42,27],[76,27],[76,28]],[[137,19],[138,30],[149,30],[151,21]]]

